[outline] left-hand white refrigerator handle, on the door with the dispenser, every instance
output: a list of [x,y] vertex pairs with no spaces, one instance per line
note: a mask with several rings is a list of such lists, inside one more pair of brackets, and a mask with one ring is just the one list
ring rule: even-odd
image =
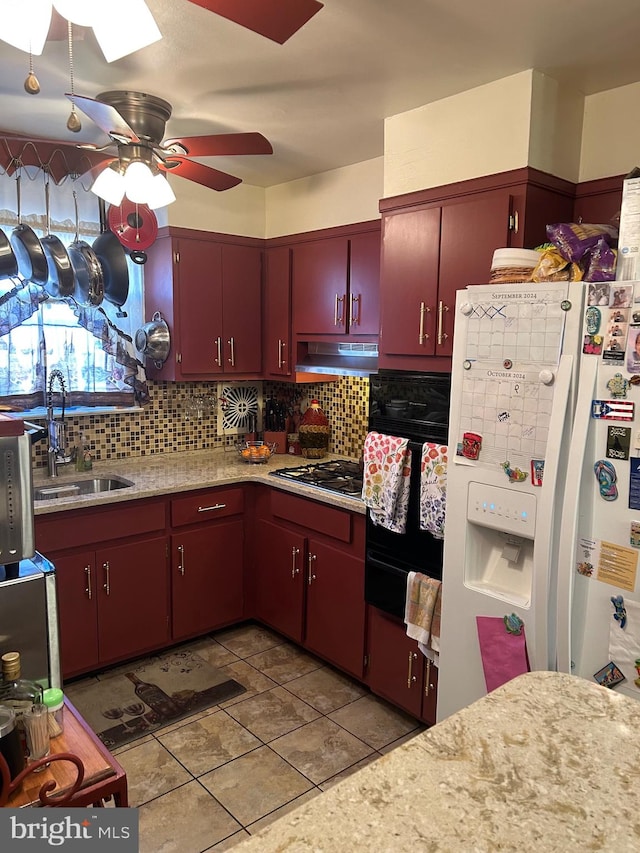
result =
[[562,436],[571,394],[573,356],[560,356],[555,378],[555,392],[549,421],[549,438],[544,460],[544,478],[542,480],[542,500],[536,519],[536,544],[533,552],[533,618],[535,626],[534,660],[532,669],[548,669],[550,660],[549,628],[554,619],[549,593],[551,590],[551,569],[553,566],[554,546],[554,509],[557,494]]

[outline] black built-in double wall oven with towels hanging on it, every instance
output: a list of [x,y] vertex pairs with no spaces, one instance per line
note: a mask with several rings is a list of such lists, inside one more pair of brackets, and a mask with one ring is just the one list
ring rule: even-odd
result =
[[424,442],[447,443],[450,392],[450,373],[381,370],[369,378],[369,430],[406,438],[411,449],[406,532],[374,524],[367,510],[365,600],[399,617],[409,572],[442,579],[443,541],[420,530],[420,458]]

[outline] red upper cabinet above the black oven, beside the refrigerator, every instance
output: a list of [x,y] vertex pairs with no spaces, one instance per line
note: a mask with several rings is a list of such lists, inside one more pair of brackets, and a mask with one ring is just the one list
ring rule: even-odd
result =
[[573,185],[531,169],[383,199],[381,368],[450,369],[456,292],[489,280],[493,252],[531,248],[568,221]]

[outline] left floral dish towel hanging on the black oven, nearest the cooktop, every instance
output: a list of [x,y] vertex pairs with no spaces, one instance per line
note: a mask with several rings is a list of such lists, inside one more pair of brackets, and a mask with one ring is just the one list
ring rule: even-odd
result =
[[409,506],[411,451],[406,438],[370,432],[364,442],[362,500],[374,524],[404,533]]

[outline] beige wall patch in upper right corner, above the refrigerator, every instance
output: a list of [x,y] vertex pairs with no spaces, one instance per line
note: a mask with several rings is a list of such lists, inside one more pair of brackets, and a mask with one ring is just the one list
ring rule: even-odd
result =
[[640,83],[585,98],[581,181],[626,175],[640,165]]

